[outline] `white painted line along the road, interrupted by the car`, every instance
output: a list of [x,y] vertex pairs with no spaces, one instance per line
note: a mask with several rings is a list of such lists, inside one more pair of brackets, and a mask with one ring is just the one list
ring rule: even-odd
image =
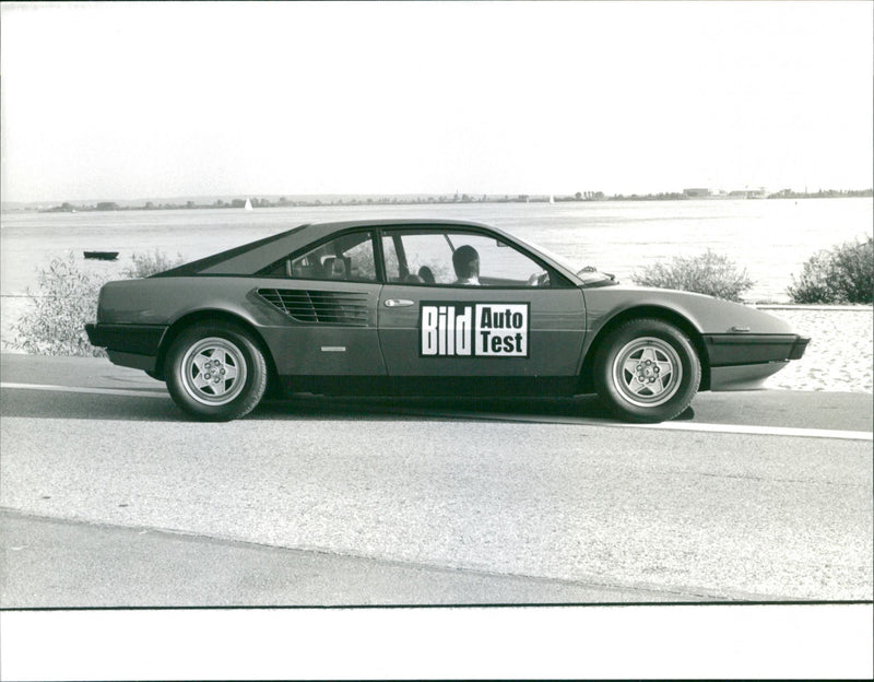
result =
[[[12,384],[0,383],[2,388],[23,388],[29,390],[61,391],[69,393],[91,393],[97,396],[131,396],[133,398],[169,398],[169,395],[161,390],[126,390],[121,388],[85,388],[79,386],[50,386],[45,384]],[[705,424],[701,422],[662,422],[661,424],[623,424],[621,422],[601,422],[576,419],[572,416],[529,416],[516,414],[476,414],[470,412],[430,412],[422,410],[404,411],[406,414],[429,414],[432,416],[457,416],[464,419],[485,419],[497,421],[513,422],[535,422],[547,424],[580,424],[588,426],[609,426],[614,428],[658,428],[660,431],[693,431],[700,433],[728,433],[746,434],[760,436],[795,436],[802,438],[837,438],[842,440],[874,440],[874,433],[865,431],[838,431],[831,428],[793,428],[788,426],[753,426],[746,424]]]

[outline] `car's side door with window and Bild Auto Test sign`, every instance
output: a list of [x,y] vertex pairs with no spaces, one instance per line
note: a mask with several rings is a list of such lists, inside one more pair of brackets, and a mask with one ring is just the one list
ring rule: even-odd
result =
[[[459,271],[475,252],[474,277]],[[494,233],[383,230],[377,321],[390,377],[574,378],[582,292]]]

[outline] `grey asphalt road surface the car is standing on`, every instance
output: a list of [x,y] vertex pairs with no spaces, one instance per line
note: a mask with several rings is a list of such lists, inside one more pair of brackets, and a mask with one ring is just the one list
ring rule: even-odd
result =
[[872,400],[271,402],[3,355],[0,605],[871,600]]

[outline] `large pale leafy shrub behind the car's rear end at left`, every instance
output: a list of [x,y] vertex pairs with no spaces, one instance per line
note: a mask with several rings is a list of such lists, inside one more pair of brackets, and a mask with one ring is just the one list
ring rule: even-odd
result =
[[12,325],[7,345],[39,355],[105,355],[85,334],[97,316],[97,295],[105,278],[80,270],[73,254],[55,258],[37,275],[38,294],[27,290],[28,310]]

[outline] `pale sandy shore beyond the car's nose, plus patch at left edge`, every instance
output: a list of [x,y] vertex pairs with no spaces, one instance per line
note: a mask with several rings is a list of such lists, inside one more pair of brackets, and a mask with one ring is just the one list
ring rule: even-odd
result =
[[[0,340],[11,338],[11,326],[26,306],[26,298],[0,297]],[[804,357],[791,362],[770,378],[767,388],[874,391],[874,309],[871,306],[760,306],[760,309],[786,319],[798,333],[812,339]],[[0,350],[14,352],[5,343]]]

